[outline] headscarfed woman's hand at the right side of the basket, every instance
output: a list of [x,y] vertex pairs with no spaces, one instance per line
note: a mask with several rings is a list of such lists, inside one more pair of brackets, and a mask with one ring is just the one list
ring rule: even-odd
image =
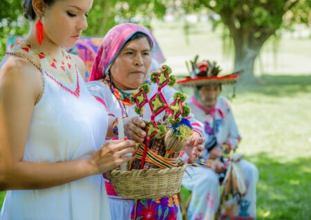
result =
[[202,138],[197,132],[194,132],[194,134],[187,138],[184,150],[186,154],[191,158],[191,161],[196,161],[200,156],[202,156],[204,142],[205,138]]

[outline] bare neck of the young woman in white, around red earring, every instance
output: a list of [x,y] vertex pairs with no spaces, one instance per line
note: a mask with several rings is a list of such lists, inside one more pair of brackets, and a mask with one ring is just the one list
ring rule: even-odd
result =
[[44,41],[41,45],[39,45],[36,41],[35,37],[35,22],[30,24],[30,31],[25,39],[32,45],[37,48],[38,51],[43,52],[45,55],[49,55],[51,57],[62,57],[62,48],[52,42],[48,37],[44,38]]

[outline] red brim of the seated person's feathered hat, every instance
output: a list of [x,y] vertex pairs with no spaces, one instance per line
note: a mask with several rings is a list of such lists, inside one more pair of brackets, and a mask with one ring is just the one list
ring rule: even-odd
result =
[[177,84],[180,86],[203,86],[206,84],[234,84],[238,80],[237,74],[225,76],[202,76],[202,77],[187,77],[178,80]]

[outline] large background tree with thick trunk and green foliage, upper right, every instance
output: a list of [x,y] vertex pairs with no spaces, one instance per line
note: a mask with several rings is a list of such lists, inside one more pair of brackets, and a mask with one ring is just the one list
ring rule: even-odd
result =
[[187,0],[182,5],[189,13],[208,8],[220,15],[234,43],[234,70],[243,70],[246,82],[254,80],[254,62],[267,39],[281,28],[311,24],[310,0]]

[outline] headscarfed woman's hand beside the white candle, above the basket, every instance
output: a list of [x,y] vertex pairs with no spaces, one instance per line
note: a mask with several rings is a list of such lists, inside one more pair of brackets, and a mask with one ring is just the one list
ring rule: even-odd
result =
[[124,122],[124,134],[136,143],[144,143],[144,138],[147,136],[144,127],[146,124],[142,118],[135,116],[131,118],[123,118]]

